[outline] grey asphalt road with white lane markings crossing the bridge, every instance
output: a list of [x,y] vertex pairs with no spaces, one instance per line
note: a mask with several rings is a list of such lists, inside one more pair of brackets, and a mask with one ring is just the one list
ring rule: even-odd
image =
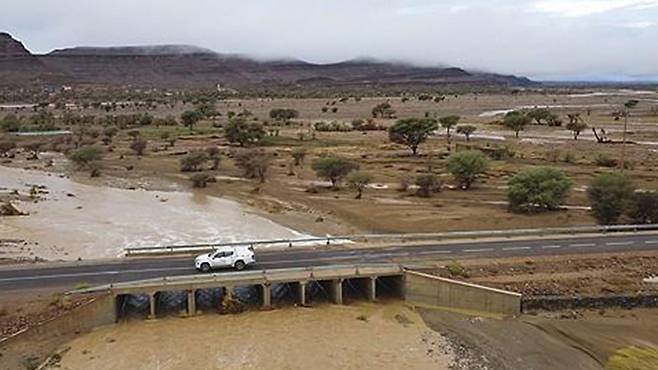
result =
[[[428,258],[512,257],[593,252],[658,250],[658,234],[608,234],[556,239],[472,241],[359,249],[261,251],[254,268],[276,269],[313,265],[391,262]],[[128,258],[116,261],[86,261],[0,268],[0,294],[34,288],[77,284],[108,284],[119,281],[197,273],[190,257]]]

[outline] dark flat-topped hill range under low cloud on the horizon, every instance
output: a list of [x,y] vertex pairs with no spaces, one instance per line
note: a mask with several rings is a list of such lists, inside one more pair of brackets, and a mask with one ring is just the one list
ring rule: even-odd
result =
[[188,45],[76,47],[33,55],[9,34],[0,34],[0,85],[44,84],[209,88],[280,85],[349,86],[482,84],[525,86],[526,78],[472,73],[460,68],[416,67],[354,60],[313,64],[258,61]]

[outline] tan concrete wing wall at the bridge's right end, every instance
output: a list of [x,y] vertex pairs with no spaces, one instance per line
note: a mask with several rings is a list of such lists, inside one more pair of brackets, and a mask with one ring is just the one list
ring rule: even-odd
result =
[[518,293],[415,271],[406,271],[404,279],[404,299],[414,306],[503,316],[516,316],[521,312],[521,294]]

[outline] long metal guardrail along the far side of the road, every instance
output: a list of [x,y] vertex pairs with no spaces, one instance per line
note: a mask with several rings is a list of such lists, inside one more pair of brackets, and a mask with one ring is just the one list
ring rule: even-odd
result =
[[604,226],[576,226],[576,227],[554,227],[545,229],[511,229],[511,230],[485,230],[485,231],[450,231],[442,233],[406,233],[406,234],[355,234],[355,235],[337,235],[326,237],[312,237],[299,239],[274,239],[274,240],[254,240],[245,242],[231,243],[205,243],[205,244],[187,244],[187,245],[170,245],[170,246],[151,246],[151,247],[132,247],[125,248],[126,256],[138,255],[173,255],[192,252],[207,252],[221,247],[232,246],[262,246],[262,245],[286,245],[292,247],[300,244],[341,244],[356,241],[369,242],[371,240],[434,240],[440,241],[445,239],[459,238],[492,238],[492,237],[515,237],[515,236],[544,236],[560,234],[588,234],[588,233],[609,233],[609,232],[639,232],[658,230],[658,224],[650,225],[604,225]]

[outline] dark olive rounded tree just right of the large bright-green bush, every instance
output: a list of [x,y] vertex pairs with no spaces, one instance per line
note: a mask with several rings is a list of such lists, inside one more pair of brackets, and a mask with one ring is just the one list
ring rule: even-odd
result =
[[597,176],[587,188],[587,196],[599,224],[618,222],[634,192],[633,183],[622,174],[606,173]]

